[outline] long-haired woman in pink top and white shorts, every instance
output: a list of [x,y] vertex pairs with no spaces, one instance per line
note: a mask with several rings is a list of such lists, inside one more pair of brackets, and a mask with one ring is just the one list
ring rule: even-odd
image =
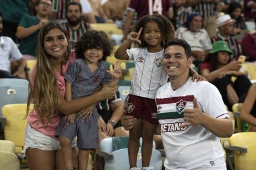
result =
[[24,152],[30,170],[61,170],[63,159],[55,131],[61,114],[71,114],[88,108],[102,99],[112,98],[117,88],[104,87],[88,97],[66,101],[63,74],[75,60],[69,49],[67,32],[57,22],[49,22],[40,30],[37,43],[37,62],[30,75],[28,115]]

